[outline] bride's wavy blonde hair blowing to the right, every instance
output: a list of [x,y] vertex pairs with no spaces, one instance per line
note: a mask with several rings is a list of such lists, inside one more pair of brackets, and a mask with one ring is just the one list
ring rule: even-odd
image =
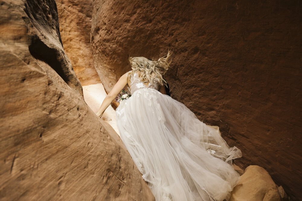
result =
[[[154,80],[156,79],[160,85],[165,84],[167,86],[167,82],[162,78],[162,75],[164,75],[170,67],[172,53],[171,50],[168,50],[168,54],[159,58],[157,61],[152,61],[145,57],[129,57],[132,70],[127,73],[127,76],[131,77],[139,71],[143,81],[149,81],[154,84]],[[155,74],[155,77],[151,76],[152,73]]]

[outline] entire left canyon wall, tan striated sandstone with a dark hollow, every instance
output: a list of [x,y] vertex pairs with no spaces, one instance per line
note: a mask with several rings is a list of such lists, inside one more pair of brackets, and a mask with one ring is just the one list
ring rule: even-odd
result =
[[154,200],[120,138],[85,104],[55,2],[0,8],[0,199]]

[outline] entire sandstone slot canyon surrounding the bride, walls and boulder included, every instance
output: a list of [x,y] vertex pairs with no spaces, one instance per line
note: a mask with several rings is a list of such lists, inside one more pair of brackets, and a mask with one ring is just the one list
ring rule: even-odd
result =
[[301,199],[299,1],[0,6],[1,200],[154,200],[114,109],[104,120],[94,111],[130,70],[128,56],[168,48],[172,98],[243,153],[230,200]]

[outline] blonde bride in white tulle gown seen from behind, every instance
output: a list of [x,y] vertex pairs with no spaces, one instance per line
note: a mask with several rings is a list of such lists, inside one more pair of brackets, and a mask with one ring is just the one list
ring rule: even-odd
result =
[[130,86],[130,98],[116,109],[120,138],[143,179],[159,200],[229,200],[239,182],[230,148],[219,128],[199,121],[184,104],[165,94],[162,75],[171,52],[157,61],[129,57],[132,70],[114,85],[96,113],[101,117],[120,91]]

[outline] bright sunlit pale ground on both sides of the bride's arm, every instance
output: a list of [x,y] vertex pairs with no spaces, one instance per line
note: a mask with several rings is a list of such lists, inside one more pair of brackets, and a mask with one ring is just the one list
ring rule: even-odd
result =
[[[102,83],[90,84],[83,87],[84,100],[87,105],[96,113],[100,108],[104,98],[107,96],[107,93],[104,90]],[[105,110],[102,119],[105,120],[111,127],[120,135],[120,132],[117,129],[115,110],[111,105]]]

